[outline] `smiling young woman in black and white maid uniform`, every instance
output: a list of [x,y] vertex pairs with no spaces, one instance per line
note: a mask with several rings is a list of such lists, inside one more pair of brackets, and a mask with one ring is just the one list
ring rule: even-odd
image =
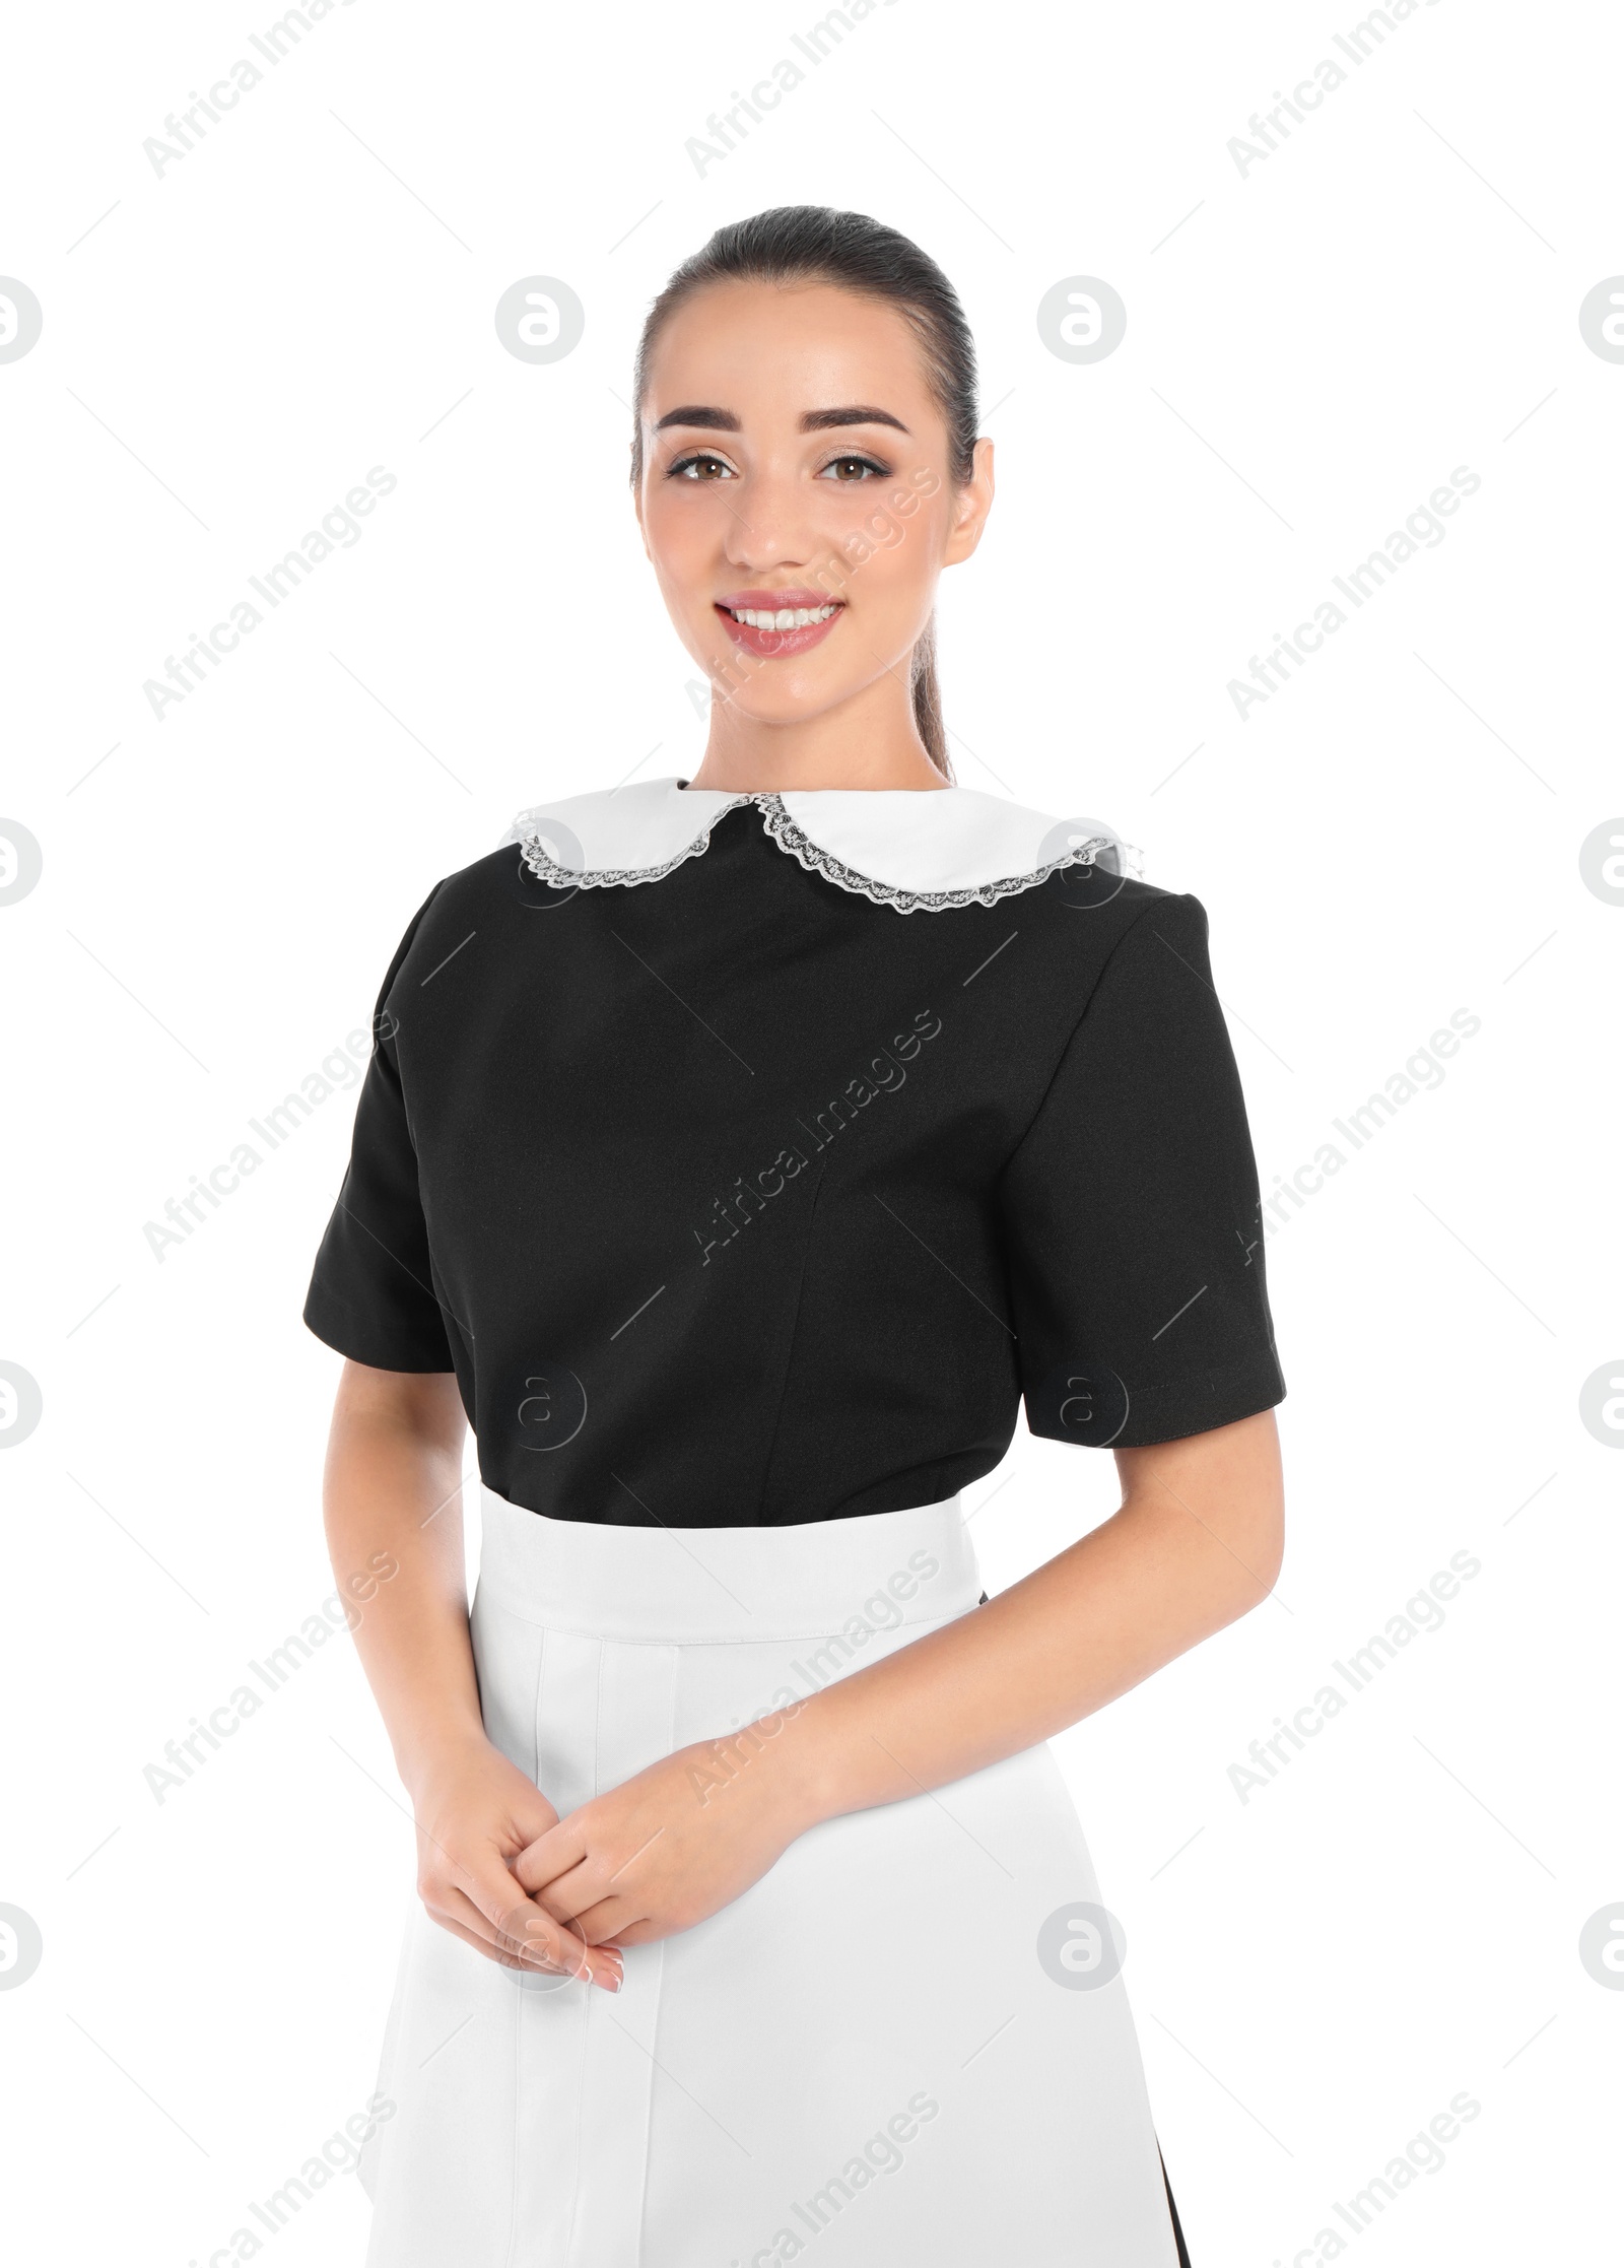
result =
[[[932,599],[993,474],[912,243],[721,229],[635,415],[703,764],[429,891],[306,1304],[420,1844],[370,2259],[1175,2268],[1046,1740],[1279,1565],[1207,919],[950,782]],[[987,1601],[1021,1399],[1123,1504]]]

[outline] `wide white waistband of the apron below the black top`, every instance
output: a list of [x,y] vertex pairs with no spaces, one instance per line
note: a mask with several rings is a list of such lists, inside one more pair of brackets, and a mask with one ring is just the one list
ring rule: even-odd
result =
[[[479,1590],[524,1622],[651,1644],[748,1644],[944,1622],[980,1601],[957,1497],[785,1529],[551,1520],[481,1483]],[[855,1633],[853,1633],[855,1635]]]

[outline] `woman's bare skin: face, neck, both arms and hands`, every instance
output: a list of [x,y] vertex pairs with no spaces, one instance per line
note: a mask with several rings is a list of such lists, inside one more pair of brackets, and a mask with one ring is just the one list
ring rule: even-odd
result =
[[[717,692],[690,785],[939,789],[910,655],[941,569],[980,542],[991,442],[955,483],[905,320],[826,284],[710,286],[658,342],[642,449],[644,547]],[[839,603],[823,635],[739,637],[719,606],[739,594],[746,612],[776,594]],[[1282,1560],[1272,1411],[1118,1449],[1120,1508],[989,1606],[558,1819],[481,1724],[463,1440],[454,1377],[345,1363],[324,1488],[333,1572],[347,1585],[379,1551],[399,1569],[367,1597],[356,1647],[413,1801],[429,1912],[488,1960],[610,1991],[619,1946],[714,1914],[826,1819],[1077,1724],[1257,1606]]]

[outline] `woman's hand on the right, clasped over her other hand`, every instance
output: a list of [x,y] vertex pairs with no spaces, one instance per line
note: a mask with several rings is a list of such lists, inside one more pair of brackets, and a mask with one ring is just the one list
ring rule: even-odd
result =
[[560,1819],[513,1873],[590,1946],[692,1930],[812,1823],[780,1762],[739,1735],[678,1749]]

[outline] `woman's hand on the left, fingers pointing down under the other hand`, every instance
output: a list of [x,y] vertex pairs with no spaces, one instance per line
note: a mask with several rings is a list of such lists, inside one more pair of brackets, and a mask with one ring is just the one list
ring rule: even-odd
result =
[[558,1812],[483,1735],[438,1749],[411,1776],[417,1817],[417,1896],[429,1919],[504,1969],[621,1987],[615,1946],[587,1946],[528,1898],[508,1862]]

